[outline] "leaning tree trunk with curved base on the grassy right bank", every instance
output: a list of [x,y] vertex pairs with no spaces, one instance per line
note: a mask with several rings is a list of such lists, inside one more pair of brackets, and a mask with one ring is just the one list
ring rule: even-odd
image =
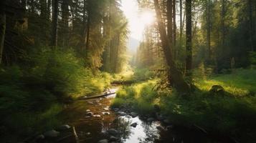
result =
[[161,44],[163,47],[163,54],[166,59],[166,64],[169,66],[169,82],[177,89],[180,93],[189,93],[190,87],[187,84],[181,74],[181,72],[176,68],[176,65],[171,56],[170,42],[166,34],[166,28],[162,21],[161,11],[159,8],[158,0],[154,0],[154,6],[156,10],[156,19],[158,22],[158,29],[161,38]]

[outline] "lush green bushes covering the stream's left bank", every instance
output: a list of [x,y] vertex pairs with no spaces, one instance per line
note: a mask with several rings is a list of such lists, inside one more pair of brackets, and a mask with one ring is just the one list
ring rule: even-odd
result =
[[85,68],[72,50],[44,47],[31,55],[26,64],[0,71],[0,121],[14,134],[30,134],[60,124],[56,114],[62,102],[103,92],[110,84],[109,74]]

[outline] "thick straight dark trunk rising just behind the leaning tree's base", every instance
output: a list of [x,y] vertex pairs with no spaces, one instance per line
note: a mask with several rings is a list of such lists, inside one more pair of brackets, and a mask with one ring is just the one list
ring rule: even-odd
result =
[[191,69],[192,69],[191,26],[192,26],[191,0],[186,0],[186,76],[187,77],[191,77]]

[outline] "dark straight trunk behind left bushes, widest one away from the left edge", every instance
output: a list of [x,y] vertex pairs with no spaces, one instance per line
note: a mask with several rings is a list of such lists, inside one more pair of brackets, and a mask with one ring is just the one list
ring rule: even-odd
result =
[[52,2],[52,46],[57,46],[57,26],[58,26],[58,9],[59,3],[58,0],[53,0]]

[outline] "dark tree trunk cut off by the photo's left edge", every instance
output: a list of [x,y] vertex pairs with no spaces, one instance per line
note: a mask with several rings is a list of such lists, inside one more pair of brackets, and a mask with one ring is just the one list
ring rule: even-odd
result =
[[0,11],[0,64],[3,57],[4,50],[4,36],[6,29],[6,14],[4,12],[4,2],[1,1],[1,11]]

